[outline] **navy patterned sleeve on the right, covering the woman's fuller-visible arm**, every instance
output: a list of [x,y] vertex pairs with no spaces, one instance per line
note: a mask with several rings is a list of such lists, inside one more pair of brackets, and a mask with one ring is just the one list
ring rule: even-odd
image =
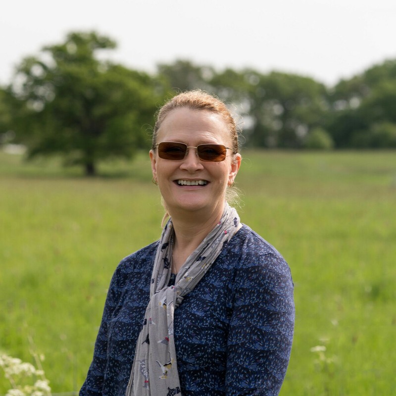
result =
[[256,256],[240,268],[227,341],[226,395],[275,396],[293,340],[290,269],[275,253]]

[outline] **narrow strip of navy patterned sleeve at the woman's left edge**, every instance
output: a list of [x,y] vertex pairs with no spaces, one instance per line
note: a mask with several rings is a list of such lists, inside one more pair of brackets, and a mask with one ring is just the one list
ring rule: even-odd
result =
[[[117,268],[118,269],[118,268]],[[104,372],[107,364],[108,324],[119,300],[118,273],[114,273],[107,292],[102,320],[95,342],[94,357],[87,378],[80,390],[80,396],[102,395]]]

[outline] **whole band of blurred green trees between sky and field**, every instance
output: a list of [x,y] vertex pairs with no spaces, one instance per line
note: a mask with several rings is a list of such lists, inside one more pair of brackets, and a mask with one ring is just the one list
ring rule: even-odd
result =
[[97,32],[71,32],[24,58],[0,87],[0,144],[24,144],[28,158],[61,154],[94,175],[100,160],[147,149],[156,109],[199,88],[243,120],[244,147],[396,148],[396,59],[328,87],[296,74],[218,71],[189,60],[148,74],[103,60],[115,47]]

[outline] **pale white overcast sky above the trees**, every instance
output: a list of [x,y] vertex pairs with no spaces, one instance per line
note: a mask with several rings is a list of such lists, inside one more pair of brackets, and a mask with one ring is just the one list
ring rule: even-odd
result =
[[0,84],[71,31],[117,43],[107,57],[154,73],[177,59],[309,76],[328,86],[396,59],[395,0],[12,0],[0,6]]

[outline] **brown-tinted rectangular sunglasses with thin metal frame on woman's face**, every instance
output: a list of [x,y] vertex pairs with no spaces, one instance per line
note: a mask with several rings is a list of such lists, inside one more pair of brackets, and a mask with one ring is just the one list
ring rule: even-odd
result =
[[158,156],[160,158],[176,161],[184,159],[189,148],[196,148],[199,159],[208,162],[224,161],[227,156],[227,150],[231,150],[231,148],[223,145],[205,144],[193,147],[178,142],[161,142],[155,146],[158,147]]

